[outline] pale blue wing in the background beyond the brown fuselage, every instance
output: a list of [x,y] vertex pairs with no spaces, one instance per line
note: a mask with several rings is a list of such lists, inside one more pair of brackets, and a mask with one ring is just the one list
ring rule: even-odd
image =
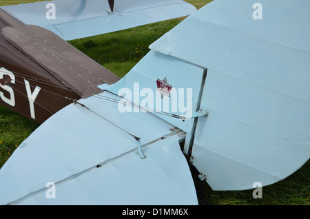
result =
[[69,41],[192,14],[181,0],[54,0],[3,6],[25,24],[38,25]]

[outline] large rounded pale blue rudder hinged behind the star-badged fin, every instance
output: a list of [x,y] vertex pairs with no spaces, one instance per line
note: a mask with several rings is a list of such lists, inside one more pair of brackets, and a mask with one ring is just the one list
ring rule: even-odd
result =
[[207,68],[192,156],[214,190],[276,183],[310,157],[310,3],[260,1],[261,20],[254,3],[212,1],[150,46]]

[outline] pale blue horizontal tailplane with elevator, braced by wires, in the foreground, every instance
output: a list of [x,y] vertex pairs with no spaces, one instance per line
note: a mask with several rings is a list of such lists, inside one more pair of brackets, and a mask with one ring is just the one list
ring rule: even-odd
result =
[[[72,103],[54,114],[3,165],[2,205],[198,204],[179,129],[149,113],[122,114],[99,96],[80,103],[87,108]],[[141,138],[146,158],[127,132]],[[46,196],[50,182],[55,198]]]

